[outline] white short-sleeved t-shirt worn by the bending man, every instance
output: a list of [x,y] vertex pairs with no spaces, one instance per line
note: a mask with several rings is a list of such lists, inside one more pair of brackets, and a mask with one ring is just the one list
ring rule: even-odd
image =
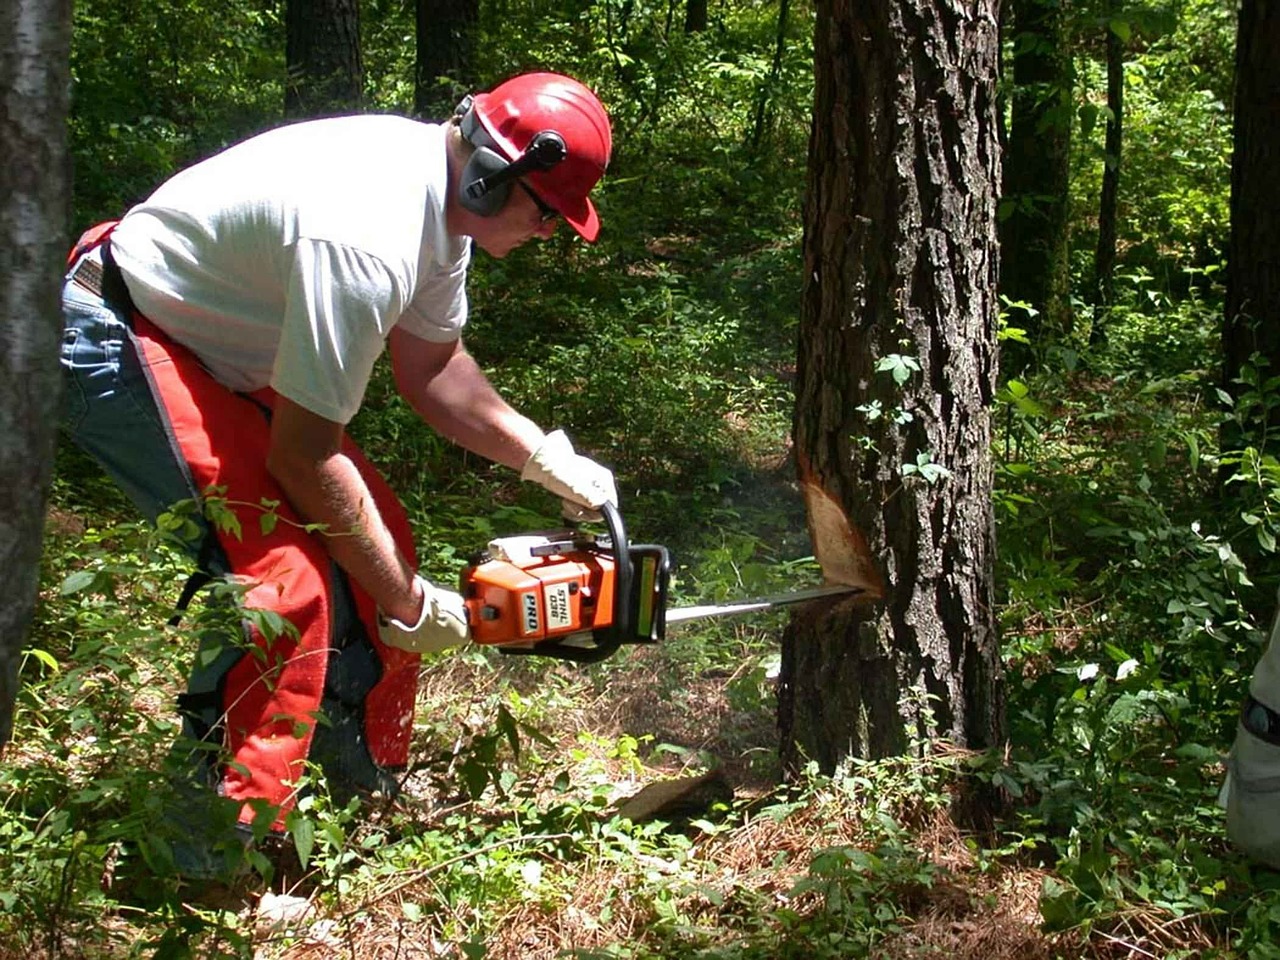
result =
[[219,381],[346,424],[393,326],[444,343],[466,323],[447,133],[387,115],[262,133],[129,210],[111,252],[138,310]]

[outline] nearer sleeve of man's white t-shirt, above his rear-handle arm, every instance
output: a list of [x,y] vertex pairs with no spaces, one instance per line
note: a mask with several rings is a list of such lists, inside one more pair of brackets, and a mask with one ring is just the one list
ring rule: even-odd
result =
[[339,243],[298,241],[271,387],[312,413],[349,422],[403,306],[392,271],[378,257]]

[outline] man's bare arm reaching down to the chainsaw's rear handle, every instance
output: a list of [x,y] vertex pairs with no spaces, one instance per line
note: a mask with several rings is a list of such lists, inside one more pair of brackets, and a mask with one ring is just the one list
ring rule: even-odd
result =
[[266,467],[307,522],[326,526],[329,554],[379,609],[413,623],[422,609],[422,588],[396,549],[364,477],[342,452],[342,424],[279,397]]

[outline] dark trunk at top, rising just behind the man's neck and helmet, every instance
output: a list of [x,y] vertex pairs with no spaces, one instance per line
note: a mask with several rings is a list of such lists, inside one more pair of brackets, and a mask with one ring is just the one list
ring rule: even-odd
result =
[[444,119],[477,86],[472,54],[477,0],[417,0],[417,70],[413,110]]

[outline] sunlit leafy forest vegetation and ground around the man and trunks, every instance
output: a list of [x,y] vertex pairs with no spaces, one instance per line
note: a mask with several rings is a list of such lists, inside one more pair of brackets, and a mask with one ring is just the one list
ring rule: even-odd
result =
[[[415,13],[360,6],[365,109],[440,116],[466,92],[416,82]],[[600,242],[559,230],[479,259],[468,344],[517,407],[614,467],[634,535],[677,558],[677,603],[818,577],[787,456],[814,8],[694,13],[481,3],[465,65],[477,86],[563,70],[609,106]],[[1018,42],[1006,31],[1006,64]],[[785,782],[777,616],[590,668],[470,650],[425,666],[401,804],[344,808],[317,785],[298,863],[211,900],[164,878],[154,822],[198,626],[165,626],[186,564],[64,444],[0,769],[0,956],[1280,956],[1277,878],[1228,846],[1216,806],[1280,500],[1263,444],[1220,443],[1276,403],[1262,366],[1221,380],[1234,44],[1221,0],[1073,4],[1057,37],[1066,284],[1005,298],[991,452],[1004,750],[914,742]],[[283,5],[81,5],[73,228],[282,123],[285,46]],[[554,522],[417,424],[385,370],[353,433],[433,577]],[[718,801],[696,813],[618,815],[646,783],[704,773]],[[993,819],[956,810],[973,778],[1001,795]],[[264,888],[306,913],[273,914]]]

